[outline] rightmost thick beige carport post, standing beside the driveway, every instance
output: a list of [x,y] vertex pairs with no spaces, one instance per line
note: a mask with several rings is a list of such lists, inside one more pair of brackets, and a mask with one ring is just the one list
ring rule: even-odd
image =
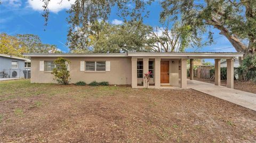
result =
[[227,87],[234,88],[234,60],[227,59]]

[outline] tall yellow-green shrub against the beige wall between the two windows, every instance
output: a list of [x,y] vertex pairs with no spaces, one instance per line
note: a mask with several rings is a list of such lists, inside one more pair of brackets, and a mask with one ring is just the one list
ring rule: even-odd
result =
[[62,85],[68,85],[69,82],[69,71],[68,65],[70,62],[65,58],[59,57],[57,60],[54,60],[54,64],[57,65],[56,68],[53,69],[52,74],[54,75],[54,80],[61,83]]

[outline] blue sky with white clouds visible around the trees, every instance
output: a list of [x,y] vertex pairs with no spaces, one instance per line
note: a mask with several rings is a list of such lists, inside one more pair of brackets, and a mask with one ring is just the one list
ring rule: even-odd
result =
[[[51,0],[50,18],[47,27],[44,27],[44,18],[42,16],[42,2],[39,0],[2,0],[0,5],[0,32],[6,32],[9,35],[17,33],[31,33],[38,35],[43,43],[57,45],[63,52],[68,52],[64,45],[67,39],[68,23],[66,10],[70,7],[70,2],[63,0],[63,4],[58,4],[60,0]],[[161,6],[155,2],[147,9],[150,11],[149,18],[145,18],[144,23],[150,26],[161,26],[159,23],[159,13]],[[116,9],[113,9],[109,16],[109,22],[122,23],[122,19],[116,15]],[[44,31],[44,28],[46,31]],[[198,49],[199,52],[236,52],[229,41],[219,35],[219,30],[213,29],[215,44]],[[231,47],[231,48],[230,48]],[[224,49],[223,49],[224,48]],[[187,52],[194,52],[195,49],[188,48]]]

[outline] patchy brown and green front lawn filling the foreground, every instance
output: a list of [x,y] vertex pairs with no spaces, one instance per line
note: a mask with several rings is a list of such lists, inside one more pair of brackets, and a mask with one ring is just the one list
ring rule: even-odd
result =
[[191,89],[0,82],[0,142],[255,142],[256,112]]

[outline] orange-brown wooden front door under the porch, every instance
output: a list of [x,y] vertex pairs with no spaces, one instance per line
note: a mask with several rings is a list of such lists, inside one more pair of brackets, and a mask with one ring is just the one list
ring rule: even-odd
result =
[[169,61],[161,61],[161,83],[169,83]]

